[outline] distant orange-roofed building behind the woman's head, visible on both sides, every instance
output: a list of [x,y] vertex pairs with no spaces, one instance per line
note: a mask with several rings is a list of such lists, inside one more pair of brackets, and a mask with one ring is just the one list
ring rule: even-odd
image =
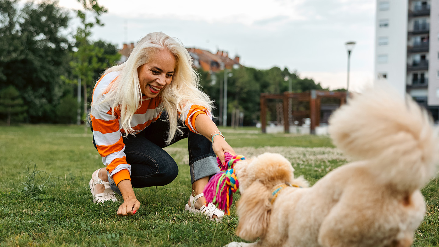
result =
[[[119,50],[121,58],[117,63],[122,64],[125,62],[133,49],[134,43],[131,43],[130,45],[124,43],[123,48]],[[224,67],[226,69],[236,69],[241,66],[239,63],[239,56],[235,56],[233,59],[229,58],[228,52],[225,51],[218,50],[216,54],[213,54],[210,51],[198,48],[186,49],[192,57],[192,66],[197,69],[201,68],[209,72],[218,72],[219,70],[223,70]]]

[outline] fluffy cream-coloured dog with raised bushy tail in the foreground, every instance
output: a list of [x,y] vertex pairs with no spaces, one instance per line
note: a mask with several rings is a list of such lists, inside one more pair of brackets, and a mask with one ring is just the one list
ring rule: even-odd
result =
[[422,222],[420,189],[435,176],[438,131],[410,98],[385,91],[356,95],[330,119],[334,144],[355,162],[310,188],[273,190],[294,178],[283,156],[264,153],[235,165],[241,198],[229,246],[410,246]]

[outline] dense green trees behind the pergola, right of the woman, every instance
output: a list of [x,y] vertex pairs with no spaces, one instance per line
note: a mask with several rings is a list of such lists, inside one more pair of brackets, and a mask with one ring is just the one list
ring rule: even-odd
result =
[[[222,94],[224,71],[209,73],[198,69],[200,84],[211,99],[215,100],[213,114],[220,116],[219,109],[222,108]],[[244,113],[244,125],[255,125],[260,118],[260,95],[261,93],[282,94],[287,92],[291,83],[292,92],[306,92],[310,90],[327,90],[315,84],[314,80],[300,78],[297,72],[290,73],[287,68],[281,70],[273,67],[267,70],[240,67],[232,69],[227,79],[227,113],[230,124],[230,115],[233,110],[239,109]],[[212,83],[215,81],[215,83]],[[269,105],[275,107],[275,105]],[[267,111],[275,113],[275,109]],[[267,117],[267,121],[270,118]]]

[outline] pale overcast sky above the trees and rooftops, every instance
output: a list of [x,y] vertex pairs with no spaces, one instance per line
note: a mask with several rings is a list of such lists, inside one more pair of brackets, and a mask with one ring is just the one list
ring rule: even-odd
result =
[[[239,55],[257,69],[297,70],[323,87],[346,87],[347,53],[355,41],[350,84],[373,82],[375,0],[100,0],[108,8],[93,38],[122,47],[161,31],[185,47]],[[60,0],[80,8],[77,0]]]

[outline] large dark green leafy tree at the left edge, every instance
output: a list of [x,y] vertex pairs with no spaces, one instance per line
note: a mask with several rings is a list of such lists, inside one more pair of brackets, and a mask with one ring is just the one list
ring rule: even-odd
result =
[[61,75],[69,72],[70,45],[63,30],[68,14],[57,4],[0,0],[0,80],[14,86],[25,105],[29,122],[56,119],[54,106],[63,96]]

